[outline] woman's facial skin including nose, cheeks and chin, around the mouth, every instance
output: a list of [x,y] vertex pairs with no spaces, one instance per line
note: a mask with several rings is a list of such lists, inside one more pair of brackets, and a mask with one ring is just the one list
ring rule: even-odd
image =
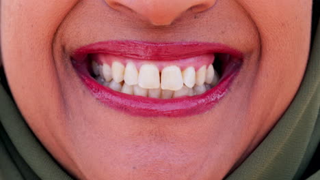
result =
[[[222,179],[293,100],[311,8],[310,0],[2,0],[3,66],[25,120],[74,177]],[[98,102],[70,63],[73,50],[107,40],[218,42],[244,61],[209,112],[134,117]]]

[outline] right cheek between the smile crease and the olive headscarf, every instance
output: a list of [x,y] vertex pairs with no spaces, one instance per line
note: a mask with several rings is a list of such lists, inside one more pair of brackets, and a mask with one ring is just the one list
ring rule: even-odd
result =
[[[265,132],[289,106],[302,80],[308,61],[312,1],[240,3],[248,10],[261,38],[250,119]],[[261,117],[273,122],[261,121]]]

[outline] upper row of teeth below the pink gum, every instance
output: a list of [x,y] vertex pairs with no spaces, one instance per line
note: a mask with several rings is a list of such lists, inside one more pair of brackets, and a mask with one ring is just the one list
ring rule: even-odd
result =
[[144,89],[158,89],[177,91],[186,87],[192,88],[195,85],[215,85],[218,77],[213,65],[202,65],[198,71],[194,67],[187,67],[181,72],[180,67],[170,65],[164,67],[161,73],[156,65],[144,64],[139,71],[133,62],[126,63],[124,66],[118,61],[114,61],[110,67],[107,63],[99,65],[92,61],[92,70],[96,76],[103,76],[105,81],[124,82],[126,85],[139,85]]

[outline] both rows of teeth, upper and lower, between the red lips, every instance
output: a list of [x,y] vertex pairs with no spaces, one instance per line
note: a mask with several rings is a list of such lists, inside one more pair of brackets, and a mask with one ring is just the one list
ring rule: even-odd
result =
[[110,67],[107,63],[99,65],[92,61],[92,70],[99,84],[114,91],[162,99],[200,95],[219,81],[212,64],[207,68],[202,65],[197,72],[194,67],[187,67],[181,72],[180,67],[170,65],[159,73],[158,67],[153,64],[142,65],[138,72],[133,62],[126,63],[124,67],[114,61]]

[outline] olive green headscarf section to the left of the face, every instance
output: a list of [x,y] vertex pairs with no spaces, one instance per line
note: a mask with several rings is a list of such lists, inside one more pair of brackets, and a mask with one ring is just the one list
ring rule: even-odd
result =
[[0,122],[0,180],[71,179],[29,130],[1,85]]

